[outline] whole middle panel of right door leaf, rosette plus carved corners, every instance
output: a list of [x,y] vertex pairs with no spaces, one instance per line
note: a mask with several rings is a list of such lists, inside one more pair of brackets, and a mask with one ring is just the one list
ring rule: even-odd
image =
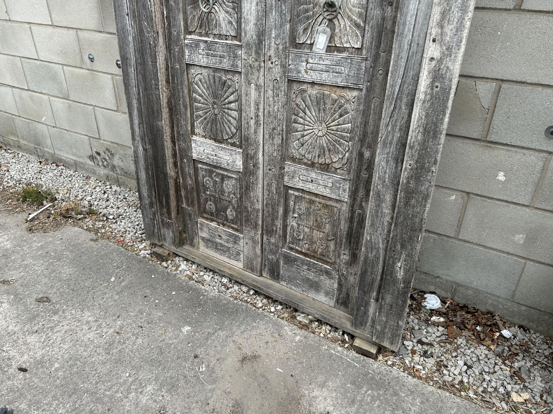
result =
[[306,167],[345,175],[356,96],[337,88],[332,90],[336,93],[298,85],[291,89],[286,158]]

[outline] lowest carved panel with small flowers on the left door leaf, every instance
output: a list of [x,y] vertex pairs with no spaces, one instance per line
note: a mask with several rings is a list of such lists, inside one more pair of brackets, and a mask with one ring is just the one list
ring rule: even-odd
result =
[[241,231],[241,173],[199,161],[195,164],[200,216]]

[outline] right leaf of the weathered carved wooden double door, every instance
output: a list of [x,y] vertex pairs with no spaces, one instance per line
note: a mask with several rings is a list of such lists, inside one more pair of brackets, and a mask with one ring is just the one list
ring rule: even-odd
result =
[[350,315],[389,65],[388,3],[267,6],[263,275]]

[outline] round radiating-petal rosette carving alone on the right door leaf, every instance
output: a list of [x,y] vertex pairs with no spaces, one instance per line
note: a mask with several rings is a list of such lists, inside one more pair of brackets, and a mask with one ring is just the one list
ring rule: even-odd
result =
[[353,98],[338,97],[328,91],[301,89],[292,116],[292,155],[345,168]]

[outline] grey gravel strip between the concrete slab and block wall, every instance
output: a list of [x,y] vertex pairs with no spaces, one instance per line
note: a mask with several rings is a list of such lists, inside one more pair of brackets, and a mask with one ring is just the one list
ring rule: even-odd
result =
[[[14,200],[29,183],[55,191],[51,216],[65,203],[79,201],[83,212],[93,213],[72,217],[72,224],[159,262],[151,256],[152,244],[144,237],[137,192],[0,147],[2,199]],[[182,257],[160,264],[206,289],[351,348],[354,338],[348,333],[200,264]],[[397,353],[381,352],[379,362],[495,412],[553,412],[552,338],[450,299],[442,299],[440,309],[427,310],[421,306],[423,294],[415,291],[411,295],[401,348]]]

